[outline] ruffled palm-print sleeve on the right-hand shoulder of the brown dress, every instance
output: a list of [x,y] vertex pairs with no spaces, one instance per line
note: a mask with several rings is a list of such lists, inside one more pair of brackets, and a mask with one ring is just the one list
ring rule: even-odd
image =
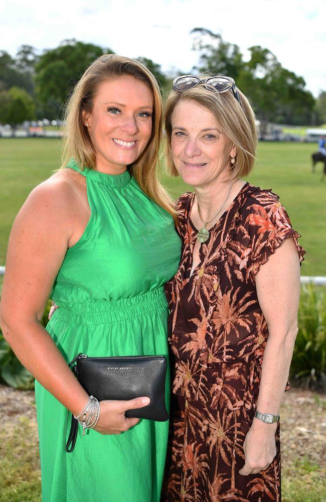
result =
[[251,241],[251,266],[248,269],[254,277],[260,266],[267,262],[281,243],[292,236],[299,255],[300,264],[305,250],[298,243],[301,237],[293,228],[279,197],[271,191],[259,191],[251,197],[246,208],[245,227]]

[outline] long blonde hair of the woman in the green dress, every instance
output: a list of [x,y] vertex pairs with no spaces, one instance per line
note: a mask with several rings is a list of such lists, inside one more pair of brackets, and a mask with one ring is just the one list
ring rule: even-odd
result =
[[74,159],[80,169],[95,169],[96,156],[93,144],[84,125],[83,113],[91,113],[98,87],[110,79],[124,76],[143,82],[153,93],[152,131],[150,139],[134,164],[128,166],[140,188],[159,206],[168,211],[177,222],[172,200],[156,176],[156,165],[162,134],[162,102],[154,76],[139,61],[116,54],[97,58],[86,69],[75,86],[66,107],[64,118],[64,149],[61,169]]

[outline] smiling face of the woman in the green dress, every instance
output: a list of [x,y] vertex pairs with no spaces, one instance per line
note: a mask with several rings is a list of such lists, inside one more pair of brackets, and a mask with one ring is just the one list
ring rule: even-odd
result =
[[151,90],[133,77],[99,85],[92,112],[83,114],[98,171],[121,174],[137,160],[151,136],[153,102]]

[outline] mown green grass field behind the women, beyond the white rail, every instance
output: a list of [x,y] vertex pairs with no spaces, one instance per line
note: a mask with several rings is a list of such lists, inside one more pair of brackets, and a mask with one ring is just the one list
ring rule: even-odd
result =
[[[326,181],[320,181],[321,164],[311,173],[310,155],[315,150],[314,144],[261,143],[248,181],[280,195],[307,250],[302,275],[326,276]],[[61,142],[50,138],[1,139],[0,151],[0,265],[5,265],[15,215],[32,188],[59,167]],[[162,180],[175,198],[191,189],[180,178],[163,175]]]

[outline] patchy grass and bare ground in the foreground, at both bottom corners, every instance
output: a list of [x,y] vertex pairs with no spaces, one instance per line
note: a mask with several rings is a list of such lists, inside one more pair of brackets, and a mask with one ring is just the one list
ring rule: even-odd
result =
[[[0,405],[3,412],[0,500],[41,502],[34,393],[0,385]],[[296,389],[284,396],[281,406],[283,502],[326,502],[323,455],[326,440],[322,423],[325,412],[325,396]]]

